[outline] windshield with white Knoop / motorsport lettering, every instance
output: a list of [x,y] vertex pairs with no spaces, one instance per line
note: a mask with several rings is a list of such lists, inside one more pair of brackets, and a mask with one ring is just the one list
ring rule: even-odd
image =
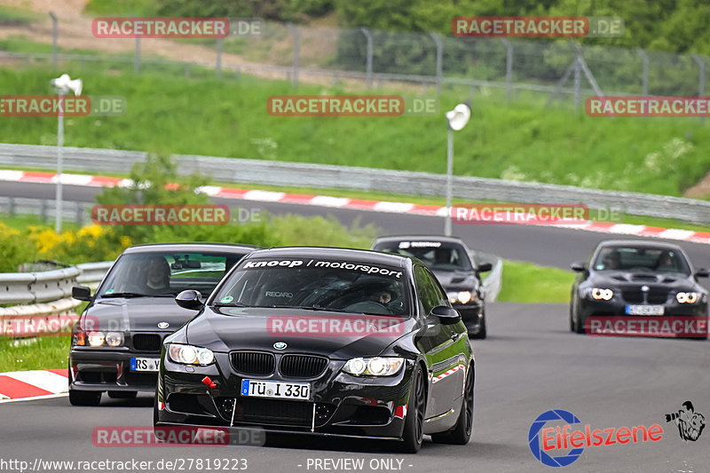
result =
[[250,259],[219,289],[214,304],[406,315],[402,268],[357,261]]

